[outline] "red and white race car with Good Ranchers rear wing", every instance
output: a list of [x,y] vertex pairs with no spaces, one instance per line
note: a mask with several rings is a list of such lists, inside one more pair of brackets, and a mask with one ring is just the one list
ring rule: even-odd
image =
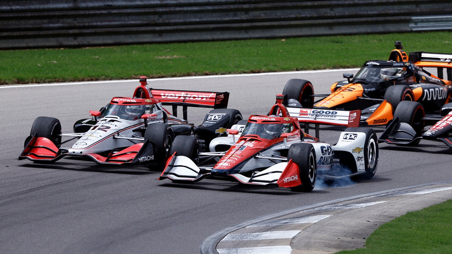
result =
[[[199,181],[206,177],[233,178],[240,183],[267,185],[293,191],[311,191],[317,174],[341,178],[373,177],[378,165],[377,136],[371,128],[358,125],[359,111],[286,108],[282,94],[268,115],[252,115],[246,125],[228,129],[227,137],[210,143],[210,152],[198,153],[197,140],[177,136],[160,180]],[[333,121],[325,113],[336,116]],[[348,126],[335,145],[320,142],[303,132],[300,122]],[[318,130],[318,128],[316,128]],[[217,158],[215,165],[203,166]]]

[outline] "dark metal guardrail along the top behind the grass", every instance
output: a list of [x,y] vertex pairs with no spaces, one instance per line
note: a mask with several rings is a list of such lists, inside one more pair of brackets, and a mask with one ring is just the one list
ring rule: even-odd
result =
[[452,1],[0,1],[0,49],[438,29],[452,29]]

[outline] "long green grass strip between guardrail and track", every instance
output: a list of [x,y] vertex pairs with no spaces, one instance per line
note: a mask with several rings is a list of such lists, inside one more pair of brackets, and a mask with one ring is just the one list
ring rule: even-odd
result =
[[0,84],[359,67],[407,52],[451,52],[451,32],[389,33],[0,51]]

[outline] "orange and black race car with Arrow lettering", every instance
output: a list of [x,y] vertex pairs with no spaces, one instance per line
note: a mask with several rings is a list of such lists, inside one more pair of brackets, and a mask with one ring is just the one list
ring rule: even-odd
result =
[[[356,75],[344,73],[347,80],[331,85],[331,94],[314,94],[308,80],[289,80],[282,91],[285,104],[319,109],[312,111],[317,115],[328,115],[328,109],[359,109],[362,126],[386,125],[404,100],[417,101],[425,113],[437,115],[452,100],[452,54],[411,52],[407,56],[400,41],[395,47],[388,61],[366,61]],[[323,98],[315,101],[314,97]]]

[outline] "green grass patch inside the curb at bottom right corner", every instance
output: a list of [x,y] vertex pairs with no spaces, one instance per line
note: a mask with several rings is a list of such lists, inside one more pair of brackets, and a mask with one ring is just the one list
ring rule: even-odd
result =
[[381,225],[366,240],[366,249],[339,254],[452,253],[452,200],[409,212]]

